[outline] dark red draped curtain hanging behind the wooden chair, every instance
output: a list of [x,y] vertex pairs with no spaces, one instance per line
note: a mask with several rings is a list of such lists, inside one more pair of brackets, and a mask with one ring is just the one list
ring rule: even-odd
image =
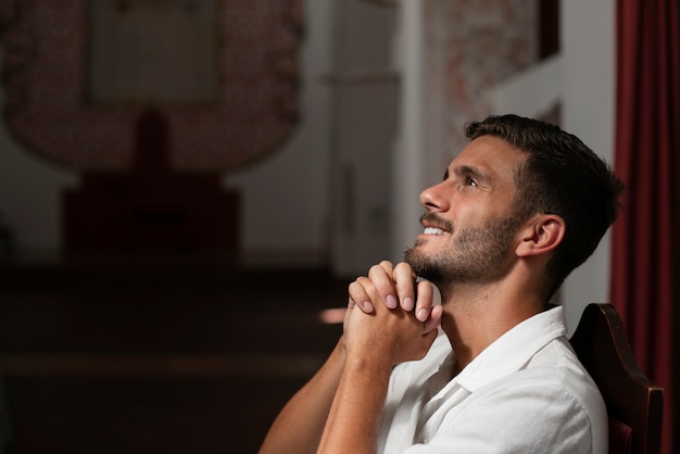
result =
[[613,227],[612,303],[641,369],[664,387],[662,452],[672,453],[673,277],[680,131],[678,0],[617,0],[615,168],[626,182]]

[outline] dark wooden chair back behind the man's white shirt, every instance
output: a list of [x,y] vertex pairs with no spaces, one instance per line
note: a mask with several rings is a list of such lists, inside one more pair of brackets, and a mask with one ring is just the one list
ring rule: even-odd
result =
[[609,453],[657,454],[664,390],[638,367],[616,308],[589,304],[570,341],[607,406]]

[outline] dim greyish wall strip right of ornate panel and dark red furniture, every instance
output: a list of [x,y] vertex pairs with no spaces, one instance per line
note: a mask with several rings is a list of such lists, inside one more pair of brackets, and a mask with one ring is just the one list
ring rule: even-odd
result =
[[300,125],[274,157],[227,178],[241,191],[245,262],[314,264],[328,249],[331,3],[305,2]]

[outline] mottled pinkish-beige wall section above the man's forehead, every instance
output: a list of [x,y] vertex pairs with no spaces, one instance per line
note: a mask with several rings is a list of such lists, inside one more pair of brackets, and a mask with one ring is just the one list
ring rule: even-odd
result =
[[[490,113],[484,92],[538,60],[536,0],[427,0],[426,39],[430,67],[445,85],[445,147],[441,165],[467,143],[464,125]],[[435,59],[436,61],[431,61]],[[441,96],[443,93],[443,96]]]

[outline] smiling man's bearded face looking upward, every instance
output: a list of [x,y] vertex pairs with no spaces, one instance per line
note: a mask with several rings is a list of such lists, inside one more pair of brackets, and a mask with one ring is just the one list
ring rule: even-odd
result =
[[514,172],[525,154],[482,136],[451,163],[444,180],[426,189],[424,231],[404,258],[436,285],[484,282],[504,275],[525,219],[514,215]]

